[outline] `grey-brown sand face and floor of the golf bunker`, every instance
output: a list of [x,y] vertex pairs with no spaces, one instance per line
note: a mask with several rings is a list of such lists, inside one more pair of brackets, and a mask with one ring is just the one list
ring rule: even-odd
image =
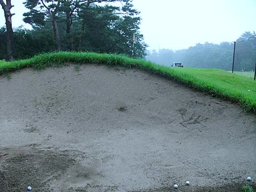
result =
[[237,104],[119,67],[0,76],[0,192],[241,192],[255,180],[256,116]]

